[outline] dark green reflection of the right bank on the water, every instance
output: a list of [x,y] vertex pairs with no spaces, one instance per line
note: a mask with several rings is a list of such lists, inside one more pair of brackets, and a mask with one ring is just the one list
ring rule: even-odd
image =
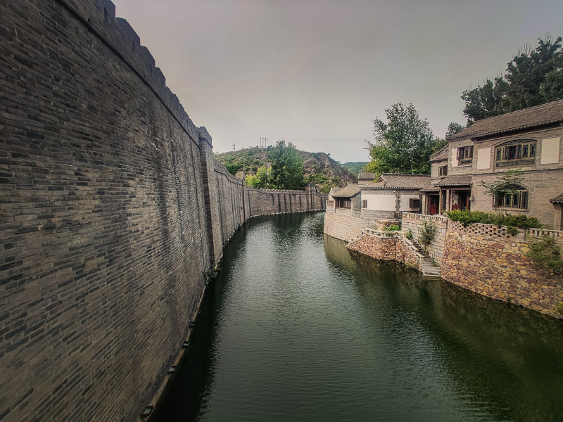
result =
[[[358,281],[365,298],[374,298],[372,290],[383,287],[401,314],[416,316],[417,324],[428,329],[456,383],[455,395],[481,402],[495,420],[563,420],[561,321],[445,281],[424,281],[418,271],[349,253],[329,236],[324,249],[329,262],[362,275]],[[392,282],[374,286],[369,279]]]

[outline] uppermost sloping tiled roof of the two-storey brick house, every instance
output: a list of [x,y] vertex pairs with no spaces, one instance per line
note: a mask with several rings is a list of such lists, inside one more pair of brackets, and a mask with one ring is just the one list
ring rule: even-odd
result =
[[450,136],[448,140],[460,138],[483,138],[505,132],[530,129],[563,121],[563,100],[540,106],[524,108],[500,116],[478,120],[467,129]]

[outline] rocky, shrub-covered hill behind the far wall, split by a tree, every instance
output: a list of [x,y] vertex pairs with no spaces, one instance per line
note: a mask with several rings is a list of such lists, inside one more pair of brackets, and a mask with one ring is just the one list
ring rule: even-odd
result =
[[[215,158],[222,162],[233,174],[239,168],[242,168],[245,172],[256,172],[258,167],[270,165],[270,160],[267,158],[268,148],[243,148],[239,151],[215,154]],[[331,187],[343,187],[355,182],[354,175],[348,169],[341,167],[326,153],[309,153],[307,151],[299,151],[299,153],[303,157],[305,183],[318,184],[323,193],[328,193]]]

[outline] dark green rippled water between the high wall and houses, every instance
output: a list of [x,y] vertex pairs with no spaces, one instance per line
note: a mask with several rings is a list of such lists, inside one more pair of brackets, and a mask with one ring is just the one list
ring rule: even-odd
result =
[[251,219],[156,421],[563,421],[563,324]]

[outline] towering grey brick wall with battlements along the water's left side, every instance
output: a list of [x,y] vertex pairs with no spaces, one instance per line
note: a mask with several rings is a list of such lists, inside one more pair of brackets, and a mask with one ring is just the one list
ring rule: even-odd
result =
[[137,421],[234,231],[324,198],[228,174],[110,1],[0,15],[0,420]]

